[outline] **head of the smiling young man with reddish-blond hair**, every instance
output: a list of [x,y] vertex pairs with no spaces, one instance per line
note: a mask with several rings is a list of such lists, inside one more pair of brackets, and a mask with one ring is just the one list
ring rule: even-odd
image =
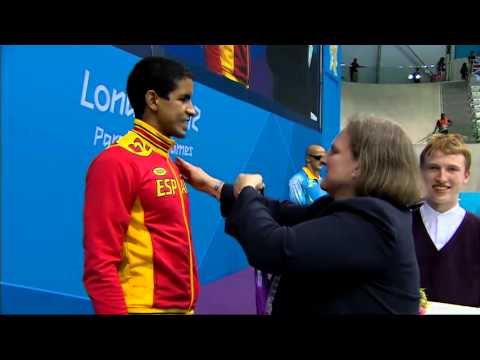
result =
[[420,154],[425,200],[439,212],[458,204],[470,179],[471,153],[459,134],[434,135]]

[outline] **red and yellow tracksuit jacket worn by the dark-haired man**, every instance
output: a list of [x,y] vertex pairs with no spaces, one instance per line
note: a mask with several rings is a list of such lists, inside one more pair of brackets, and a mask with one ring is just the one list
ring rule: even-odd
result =
[[84,283],[97,314],[193,313],[198,273],[174,144],[135,119],[88,169]]

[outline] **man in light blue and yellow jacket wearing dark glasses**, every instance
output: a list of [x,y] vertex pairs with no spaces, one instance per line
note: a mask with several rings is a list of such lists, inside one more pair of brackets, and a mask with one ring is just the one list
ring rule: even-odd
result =
[[310,205],[319,197],[326,195],[320,187],[322,181],[320,168],[326,152],[320,145],[309,145],[305,153],[305,166],[288,183],[290,201],[298,205]]

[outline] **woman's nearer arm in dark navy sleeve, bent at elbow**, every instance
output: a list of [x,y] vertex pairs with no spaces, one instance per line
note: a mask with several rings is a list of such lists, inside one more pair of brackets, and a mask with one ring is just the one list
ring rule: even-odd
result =
[[382,231],[358,214],[338,212],[281,226],[261,196],[246,188],[226,221],[250,265],[265,272],[382,271],[394,232]]

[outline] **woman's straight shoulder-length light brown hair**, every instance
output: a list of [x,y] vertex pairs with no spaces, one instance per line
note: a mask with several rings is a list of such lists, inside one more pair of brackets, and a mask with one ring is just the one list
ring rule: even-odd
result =
[[412,142],[389,119],[355,114],[346,131],[353,158],[360,164],[357,196],[373,196],[410,206],[420,199],[420,176]]

